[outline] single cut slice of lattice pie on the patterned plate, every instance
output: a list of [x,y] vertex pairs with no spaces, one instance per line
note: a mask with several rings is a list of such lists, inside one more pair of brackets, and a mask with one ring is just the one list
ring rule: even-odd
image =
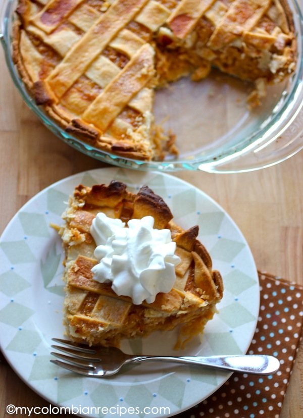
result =
[[[134,304],[129,296],[118,296],[111,283],[95,280],[92,268],[97,264],[96,244],[90,231],[98,213],[126,224],[131,219],[151,216],[155,229],[169,229],[176,243],[175,254],[180,258],[170,291],[158,293],[153,303]],[[127,191],[119,181],[108,186],[76,187],[60,231],[66,251],[65,324],[71,340],[118,346],[121,339],[145,337],[180,326],[181,343],[203,332],[222,299],[222,278],[212,269],[211,257],[197,239],[198,227],[184,231],[172,218],[167,204],[147,186],[137,194]]]

